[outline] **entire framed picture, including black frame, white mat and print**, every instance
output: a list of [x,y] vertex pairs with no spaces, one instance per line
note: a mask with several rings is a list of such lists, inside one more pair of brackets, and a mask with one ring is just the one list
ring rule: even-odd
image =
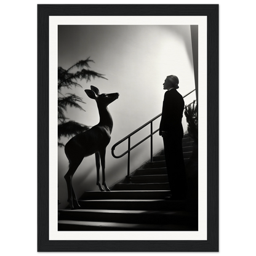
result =
[[[193,111],[196,106],[196,175],[187,174],[189,181],[196,183],[188,194],[196,196],[186,198],[185,204],[180,200],[167,202],[167,175],[148,172],[147,178],[153,176],[163,186],[153,189],[138,175],[135,180],[144,189],[143,200],[137,201],[139,186],[131,188],[134,177],[130,172],[161,157],[158,114],[164,98],[162,83],[170,74],[178,76],[178,91],[185,106],[193,106]],[[94,91],[92,96],[88,90]],[[106,177],[97,176],[104,186],[96,182],[93,154],[74,170],[72,188],[64,178],[71,158],[64,145],[76,132],[62,137],[58,126],[71,121],[87,130],[102,122],[95,98],[102,94],[112,97],[112,93],[115,98],[108,104],[114,126],[111,123],[111,142],[104,159]],[[158,121],[152,119],[154,116]],[[185,134],[189,133],[185,115],[182,120]],[[134,135],[144,124],[151,126],[151,135]],[[127,134],[137,136],[127,137],[129,150],[146,136],[149,140],[143,142],[144,148],[138,143],[140,148],[128,150],[125,159],[113,158],[120,153],[114,153],[117,142]],[[88,147],[89,151],[92,146]],[[125,152],[127,144],[120,144],[119,149]],[[164,159],[158,159],[165,164]],[[105,181],[111,191],[99,191],[109,189]],[[122,188],[120,181],[125,185]],[[137,193],[129,193],[130,201],[119,198],[122,208],[116,208],[113,191],[121,194],[130,189]],[[156,200],[148,200],[147,195],[156,190],[162,198],[154,194]],[[80,201],[74,200],[74,191]],[[108,218],[100,219],[99,202],[90,200],[98,194],[105,212],[112,214]],[[76,209],[78,202],[84,210]],[[96,210],[86,219],[82,214],[89,216],[92,204]],[[170,204],[185,208],[172,209]],[[123,218],[118,221],[121,214],[128,216],[127,223]],[[63,216],[77,217],[69,221]],[[193,223],[188,223],[188,216]],[[155,218],[161,218],[157,225]],[[38,2],[34,6],[34,253],[220,255],[222,242],[222,4]]]

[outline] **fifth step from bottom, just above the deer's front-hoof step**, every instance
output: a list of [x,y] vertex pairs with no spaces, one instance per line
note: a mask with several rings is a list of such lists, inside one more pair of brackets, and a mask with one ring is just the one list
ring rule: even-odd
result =
[[112,190],[170,190],[169,183],[118,183]]

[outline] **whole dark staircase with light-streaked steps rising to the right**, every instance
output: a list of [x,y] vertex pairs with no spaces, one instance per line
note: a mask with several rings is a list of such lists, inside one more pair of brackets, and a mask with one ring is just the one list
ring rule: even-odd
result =
[[[185,164],[192,154],[191,138],[183,138]],[[198,213],[184,200],[164,200],[170,188],[164,151],[113,185],[111,191],[87,191],[81,209],[59,210],[59,231],[194,231]]]

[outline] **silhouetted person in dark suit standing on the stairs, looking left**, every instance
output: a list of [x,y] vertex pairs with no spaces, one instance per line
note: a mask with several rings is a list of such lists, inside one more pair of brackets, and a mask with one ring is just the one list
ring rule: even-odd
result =
[[170,184],[170,194],[166,199],[185,199],[186,175],[182,150],[184,100],[176,90],[178,89],[177,76],[167,76],[163,85],[167,92],[164,94],[162,104],[159,135],[164,140],[164,154]]

